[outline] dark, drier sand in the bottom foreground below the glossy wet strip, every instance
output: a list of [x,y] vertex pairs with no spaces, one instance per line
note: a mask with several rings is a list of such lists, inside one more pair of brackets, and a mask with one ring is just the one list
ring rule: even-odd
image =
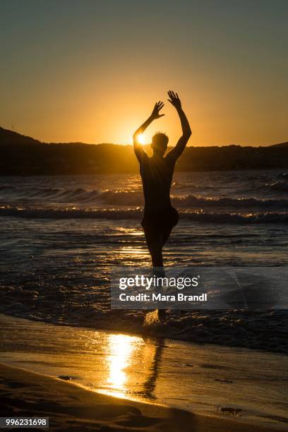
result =
[[[1,416],[49,416],[49,430],[272,432],[277,428],[118,399],[0,363]],[[83,428],[83,429],[80,429]],[[74,429],[76,430],[76,429]],[[123,429],[122,429],[123,430]],[[279,429],[278,429],[279,430]]]

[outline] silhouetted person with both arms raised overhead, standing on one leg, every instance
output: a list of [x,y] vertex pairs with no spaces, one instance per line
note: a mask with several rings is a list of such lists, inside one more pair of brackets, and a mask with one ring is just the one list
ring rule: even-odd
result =
[[164,157],[167,150],[168,137],[164,133],[155,133],[152,138],[152,157],[140,145],[138,136],[152,123],[160,119],[160,109],[163,102],[157,102],[150,117],[133,135],[133,145],[136,157],[140,163],[140,174],[145,198],[144,217],[141,222],[154,268],[163,268],[162,247],[169,238],[172,228],[178,222],[179,216],[170,201],[170,187],[175,162],[183,152],[191,136],[186,115],[181,108],[177,93],[168,92],[169,102],[176,108],[182,126],[182,136],[176,146]]

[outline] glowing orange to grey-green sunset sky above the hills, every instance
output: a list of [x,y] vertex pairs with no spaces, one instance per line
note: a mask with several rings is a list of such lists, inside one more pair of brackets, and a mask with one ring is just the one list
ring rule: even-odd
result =
[[0,13],[4,128],[44,142],[131,144],[163,100],[145,143],[163,131],[174,145],[172,89],[191,122],[188,145],[288,140],[287,1],[4,0]]

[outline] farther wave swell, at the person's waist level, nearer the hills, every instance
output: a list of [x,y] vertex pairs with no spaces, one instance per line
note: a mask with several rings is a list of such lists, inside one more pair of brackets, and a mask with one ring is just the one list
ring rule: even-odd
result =
[[[178,185],[179,186],[179,185]],[[186,187],[186,184],[180,184]],[[180,187],[180,188],[181,188]],[[189,188],[197,188],[198,186],[192,185]],[[266,188],[274,191],[288,191],[288,183],[284,181],[275,181],[271,184],[266,184]],[[251,191],[252,193],[252,191]],[[8,186],[4,184],[0,186],[0,199],[3,204],[21,203],[21,202],[34,202],[41,203],[71,203],[71,204],[91,204],[91,205],[116,205],[116,206],[140,206],[143,205],[143,192],[140,188],[136,191],[131,190],[98,190],[91,188],[58,188],[47,186],[34,186],[34,187],[20,187]],[[246,208],[261,208],[261,209],[280,209],[288,208],[288,199],[262,199],[262,198],[229,198],[211,196],[207,198],[204,196],[196,196],[193,193],[172,194],[172,203],[180,208],[231,208],[243,209]]]

